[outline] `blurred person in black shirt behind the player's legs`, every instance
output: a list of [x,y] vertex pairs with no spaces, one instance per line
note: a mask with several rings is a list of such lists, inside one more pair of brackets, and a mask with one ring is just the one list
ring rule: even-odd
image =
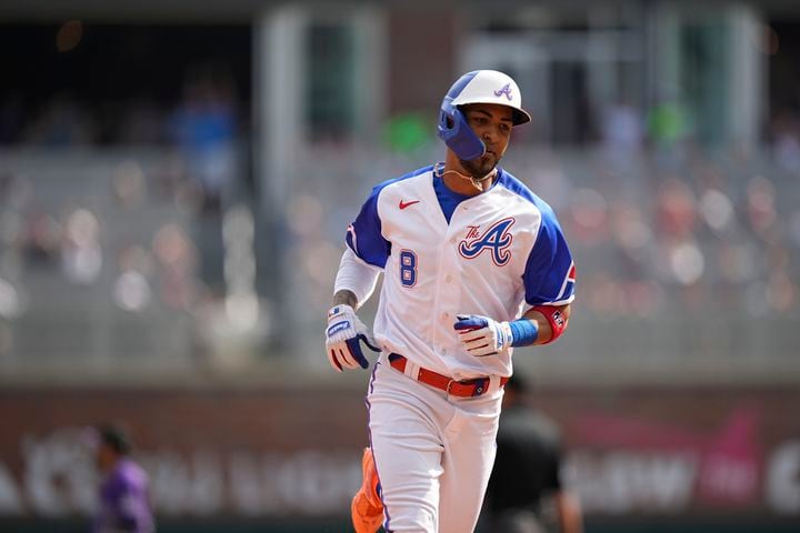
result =
[[518,374],[506,384],[482,531],[581,533],[580,505],[561,483],[559,430],[526,404],[528,392],[528,383]]

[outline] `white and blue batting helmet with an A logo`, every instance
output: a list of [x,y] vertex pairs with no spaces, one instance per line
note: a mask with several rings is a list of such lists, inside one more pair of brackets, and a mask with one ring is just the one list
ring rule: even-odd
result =
[[474,70],[459,78],[442,100],[437,134],[456,155],[467,161],[483,155],[486,147],[467,122],[461,105],[469,103],[499,103],[513,111],[513,124],[530,122],[522,109],[517,82],[497,70]]

